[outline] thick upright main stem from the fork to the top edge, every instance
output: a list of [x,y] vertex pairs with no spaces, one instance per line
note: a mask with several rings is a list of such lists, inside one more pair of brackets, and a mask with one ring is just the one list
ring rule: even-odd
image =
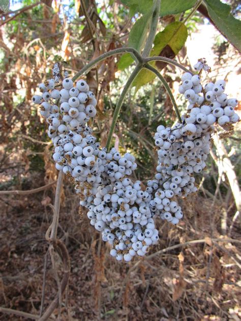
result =
[[152,23],[150,24],[150,32],[146,40],[145,48],[142,53],[142,57],[149,56],[150,51],[152,50],[153,42],[156,36],[159,12],[160,12],[161,0],[155,0],[152,13]]

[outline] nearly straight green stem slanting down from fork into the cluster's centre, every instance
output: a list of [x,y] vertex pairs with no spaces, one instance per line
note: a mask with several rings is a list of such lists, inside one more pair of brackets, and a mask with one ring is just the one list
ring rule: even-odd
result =
[[122,108],[123,101],[124,101],[124,99],[126,97],[126,94],[127,94],[128,90],[130,89],[130,87],[132,85],[133,80],[135,79],[135,77],[137,76],[137,74],[139,73],[139,71],[141,69],[142,69],[142,63],[138,63],[138,65],[136,66],[136,68],[134,69],[132,74],[130,75],[130,77],[129,77],[124,89],[122,90],[122,93],[120,94],[120,97],[118,99],[118,102],[117,102],[115,110],[114,110],[113,120],[112,120],[112,123],[111,123],[111,126],[110,126],[110,131],[109,131],[108,139],[107,139],[107,142],[106,142],[107,150],[109,150],[109,148],[110,148],[111,138],[112,138],[112,135],[114,133],[115,124],[116,124],[116,121],[117,121],[117,118],[118,118],[118,115],[119,115],[120,108]]

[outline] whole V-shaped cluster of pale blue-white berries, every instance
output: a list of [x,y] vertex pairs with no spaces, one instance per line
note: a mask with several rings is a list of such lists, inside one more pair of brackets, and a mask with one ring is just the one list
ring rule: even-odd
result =
[[[143,188],[140,181],[130,178],[137,167],[135,157],[130,153],[121,155],[115,148],[108,152],[92,135],[87,122],[96,116],[97,100],[87,83],[78,80],[74,85],[66,77],[58,85],[62,78],[58,65],[53,75],[54,79],[39,85],[42,94],[34,95],[33,101],[40,105],[40,113],[49,124],[56,169],[74,184],[80,205],[87,208],[91,224],[112,246],[110,254],[116,260],[128,262],[135,255],[145,255],[149,246],[159,240],[154,218],[160,216],[176,224],[183,217],[175,198],[197,190],[194,174],[205,169],[213,124],[220,123],[221,116],[213,111],[219,108],[226,115],[226,107],[218,102],[217,94],[214,100],[198,95],[203,91],[199,76],[185,73],[180,91],[190,102],[188,113],[182,123],[157,127],[157,174]],[[223,81],[218,84],[225,86]],[[227,103],[235,107],[234,100]],[[228,116],[230,123],[235,122],[232,116]]]

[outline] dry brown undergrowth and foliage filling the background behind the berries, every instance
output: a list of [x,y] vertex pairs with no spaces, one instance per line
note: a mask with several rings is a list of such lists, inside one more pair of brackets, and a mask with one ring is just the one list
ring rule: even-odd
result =
[[[152,0],[23,0],[13,1],[10,9],[1,3],[1,190],[32,189],[56,179],[46,125],[31,102],[38,84],[51,77],[53,63],[66,61],[66,69],[73,75],[108,50],[131,46],[140,52],[148,34],[152,3]],[[217,38],[213,45],[217,60],[211,76],[221,73],[227,79],[230,74],[239,75],[238,2],[230,2],[230,7],[219,0],[205,0],[193,14],[196,4],[175,0],[170,6],[170,1],[162,0],[159,30],[150,55],[175,58],[190,68],[188,37],[213,23],[226,39]],[[198,53],[197,58],[201,58]],[[108,58],[86,74],[98,98],[98,118],[92,125],[102,146],[120,89],[133,69],[132,62],[130,54]],[[177,94],[180,71],[160,62],[153,65],[162,71],[180,110],[184,111],[186,106]],[[171,125],[175,115],[164,88],[153,74],[142,71],[134,86],[120,112],[112,144],[136,156],[135,176],[145,182],[153,178],[156,167],[153,133],[159,124]],[[233,197],[227,175],[221,171],[224,156],[217,153],[217,147],[221,148],[235,175],[240,177],[239,133],[237,125],[235,133],[223,139],[221,147],[213,146],[208,171],[199,179],[199,193],[180,202],[185,208],[183,222],[178,227],[159,222],[161,249],[194,239],[205,242],[143,260],[136,268],[135,262],[120,265],[106,255],[106,245],[88,226],[85,213],[79,219],[78,199],[65,182],[59,237],[67,244],[72,274],[61,319],[240,317],[240,246],[210,240],[220,235],[240,240],[238,201]],[[2,306],[38,314],[46,252],[44,236],[51,221],[49,205],[53,192],[54,187],[22,198],[0,194]],[[158,248],[152,251],[157,252]],[[56,264],[61,275],[61,262]],[[46,284],[44,306],[53,298],[52,289],[56,287],[49,262]],[[52,318],[58,312],[54,311]],[[1,319],[9,318],[3,314]]]

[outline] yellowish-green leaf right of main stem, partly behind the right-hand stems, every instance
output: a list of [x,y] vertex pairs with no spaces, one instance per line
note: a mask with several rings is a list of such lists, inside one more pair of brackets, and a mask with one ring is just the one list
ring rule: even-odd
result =
[[[176,21],[168,24],[163,31],[156,35],[150,56],[162,56],[163,52],[175,56],[179,50],[183,48],[187,37],[188,31],[184,23]],[[155,67],[156,62],[154,61],[150,63],[150,65]],[[141,86],[154,80],[155,77],[149,70],[141,70],[133,82],[133,86],[136,87],[135,92],[137,92]]]

